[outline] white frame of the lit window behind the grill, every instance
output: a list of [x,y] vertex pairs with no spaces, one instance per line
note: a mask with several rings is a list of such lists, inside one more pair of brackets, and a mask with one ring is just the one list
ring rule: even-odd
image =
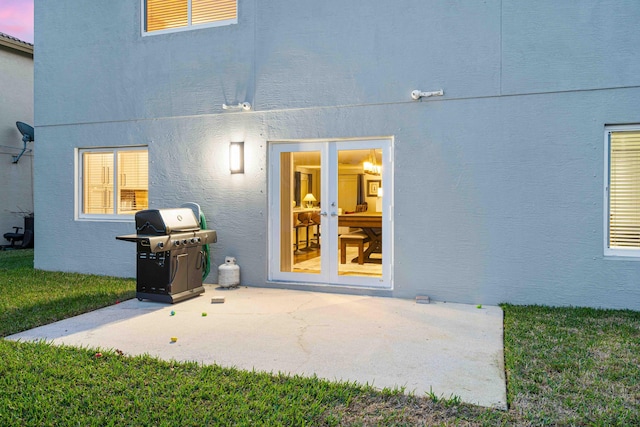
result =
[[[145,150],[149,154],[149,146],[147,145],[126,145],[114,147],[76,147],[75,149],[75,219],[77,221],[132,221],[135,214],[118,214],[118,152],[122,151],[141,151]],[[110,153],[113,154],[113,212],[109,214],[91,214],[84,213],[84,154],[85,153]],[[147,175],[147,194],[149,193],[149,177]]]

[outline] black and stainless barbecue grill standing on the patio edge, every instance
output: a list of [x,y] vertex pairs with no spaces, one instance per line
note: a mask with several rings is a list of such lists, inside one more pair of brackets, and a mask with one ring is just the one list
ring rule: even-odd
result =
[[136,297],[175,303],[200,295],[205,252],[215,230],[201,230],[188,208],[148,209],[135,215],[136,234],[117,240],[136,243]]

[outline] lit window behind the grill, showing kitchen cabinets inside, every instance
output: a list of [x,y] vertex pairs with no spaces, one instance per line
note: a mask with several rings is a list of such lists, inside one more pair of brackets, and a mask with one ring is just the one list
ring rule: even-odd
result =
[[78,151],[79,218],[108,219],[149,207],[146,147]]

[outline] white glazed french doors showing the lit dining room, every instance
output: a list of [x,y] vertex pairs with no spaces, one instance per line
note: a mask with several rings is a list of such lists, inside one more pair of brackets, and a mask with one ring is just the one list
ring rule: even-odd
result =
[[272,142],[269,159],[269,279],[391,288],[391,140]]

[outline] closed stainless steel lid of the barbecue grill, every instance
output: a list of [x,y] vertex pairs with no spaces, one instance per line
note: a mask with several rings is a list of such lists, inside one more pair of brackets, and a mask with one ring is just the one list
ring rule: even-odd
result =
[[136,212],[136,232],[148,236],[196,231],[200,223],[189,208],[147,209]]

